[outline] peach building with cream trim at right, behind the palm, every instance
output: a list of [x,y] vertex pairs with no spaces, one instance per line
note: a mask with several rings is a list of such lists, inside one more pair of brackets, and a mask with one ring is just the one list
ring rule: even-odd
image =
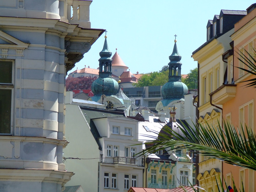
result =
[[[255,7],[256,4],[248,7],[247,15],[234,25],[234,33],[231,35],[233,47],[223,54],[223,60],[228,64],[224,79],[226,78],[230,83],[223,84],[218,91],[212,94],[212,102],[222,105],[223,118],[240,130],[242,124],[243,127],[249,126],[254,132],[256,131],[255,88],[246,87],[246,83],[242,81],[255,78],[255,76],[237,67],[247,68],[239,61],[238,52],[241,51],[247,55],[244,49],[251,53],[252,48],[256,46]],[[241,187],[243,180],[245,191],[255,191],[255,171],[223,164],[223,177],[228,185],[232,184],[232,176],[237,187]]]

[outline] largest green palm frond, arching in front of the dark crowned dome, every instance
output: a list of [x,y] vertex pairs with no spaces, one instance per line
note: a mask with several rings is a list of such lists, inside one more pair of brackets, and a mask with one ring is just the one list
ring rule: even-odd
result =
[[196,150],[203,156],[256,170],[256,136],[247,126],[239,131],[230,123],[223,121],[223,127],[220,123],[216,127],[200,123],[194,127],[183,124],[183,127],[184,129],[180,129],[185,137],[165,125],[163,127],[165,133],[159,133],[158,137],[147,142],[151,146],[142,153],[154,153],[159,148],[169,149],[168,151]]

